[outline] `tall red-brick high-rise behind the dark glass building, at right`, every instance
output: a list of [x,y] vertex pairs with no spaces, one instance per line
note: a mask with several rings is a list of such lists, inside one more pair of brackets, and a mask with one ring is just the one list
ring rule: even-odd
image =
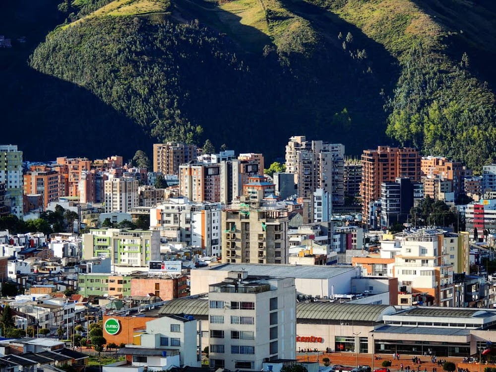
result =
[[383,182],[394,182],[396,177],[420,182],[420,156],[417,149],[378,146],[376,150],[364,150],[360,184],[364,222],[369,220],[369,204],[380,198],[380,185]]

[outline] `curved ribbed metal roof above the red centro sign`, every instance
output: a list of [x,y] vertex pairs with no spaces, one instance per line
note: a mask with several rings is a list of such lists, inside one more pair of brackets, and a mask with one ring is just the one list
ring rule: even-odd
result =
[[296,306],[296,317],[298,319],[377,322],[382,320],[382,315],[394,312],[396,312],[394,307],[389,305],[305,302]]

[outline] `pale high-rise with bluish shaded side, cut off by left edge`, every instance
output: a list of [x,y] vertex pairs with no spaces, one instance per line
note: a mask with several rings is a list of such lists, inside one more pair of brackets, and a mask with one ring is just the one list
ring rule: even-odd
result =
[[5,184],[6,197],[10,200],[10,213],[22,218],[22,151],[17,150],[17,145],[0,145],[0,183]]

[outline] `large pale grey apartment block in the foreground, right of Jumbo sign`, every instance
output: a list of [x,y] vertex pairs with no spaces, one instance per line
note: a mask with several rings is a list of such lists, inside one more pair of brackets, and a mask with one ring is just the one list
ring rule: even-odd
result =
[[208,300],[211,368],[261,371],[264,361],[296,359],[294,278],[230,271],[209,285]]

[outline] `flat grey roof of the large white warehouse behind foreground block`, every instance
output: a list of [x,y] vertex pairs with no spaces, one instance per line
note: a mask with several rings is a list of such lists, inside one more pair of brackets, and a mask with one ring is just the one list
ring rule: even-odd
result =
[[224,263],[202,267],[197,270],[248,271],[248,275],[293,277],[306,279],[329,279],[344,273],[355,271],[353,266],[334,265],[267,265],[253,263]]

